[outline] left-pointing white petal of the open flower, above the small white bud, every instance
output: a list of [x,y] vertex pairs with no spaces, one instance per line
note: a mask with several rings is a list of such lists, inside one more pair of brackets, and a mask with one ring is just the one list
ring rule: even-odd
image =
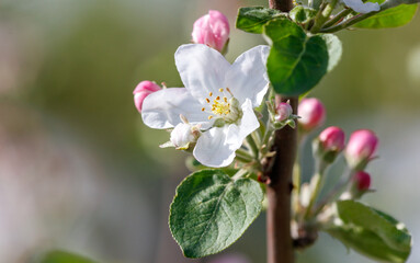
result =
[[181,123],[180,114],[192,124],[202,124],[203,128],[211,125],[202,112],[202,105],[184,88],[163,89],[148,95],[143,102],[143,122],[151,128],[171,128]]

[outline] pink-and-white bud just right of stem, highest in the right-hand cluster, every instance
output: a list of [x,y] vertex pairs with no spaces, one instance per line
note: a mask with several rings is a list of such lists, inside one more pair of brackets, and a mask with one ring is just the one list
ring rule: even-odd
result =
[[303,99],[297,108],[297,115],[300,116],[298,119],[300,127],[306,132],[310,132],[323,124],[326,110],[318,99]]

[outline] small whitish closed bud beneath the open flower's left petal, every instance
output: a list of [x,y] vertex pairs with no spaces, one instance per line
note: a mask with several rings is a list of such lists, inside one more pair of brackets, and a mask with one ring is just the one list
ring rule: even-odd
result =
[[171,142],[178,150],[186,150],[200,137],[200,128],[186,123],[178,124],[171,133]]

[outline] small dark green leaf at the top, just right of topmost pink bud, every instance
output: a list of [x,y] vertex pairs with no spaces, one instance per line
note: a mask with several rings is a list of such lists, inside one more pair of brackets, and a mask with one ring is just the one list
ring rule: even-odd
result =
[[236,27],[248,33],[261,34],[264,24],[279,18],[281,11],[263,7],[240,8],[236,20]]

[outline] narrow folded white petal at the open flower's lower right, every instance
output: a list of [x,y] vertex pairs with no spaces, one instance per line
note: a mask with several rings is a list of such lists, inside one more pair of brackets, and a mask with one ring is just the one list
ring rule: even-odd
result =
[[251,100],[247,99],[242,104],[242,118],[239,125],[232,124],[229,126],[227,134],[227,142],[232,146],[235,150],[239,149],[242,141],[249,134],[260,127],[260,123],[252,108]]

